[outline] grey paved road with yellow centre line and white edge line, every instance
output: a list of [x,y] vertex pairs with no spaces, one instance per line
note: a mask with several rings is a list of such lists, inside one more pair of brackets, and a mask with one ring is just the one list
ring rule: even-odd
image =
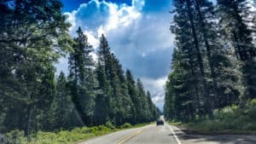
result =
[[255,135],[188,135],[175,126],[150,124],[79,144],[256,144]]

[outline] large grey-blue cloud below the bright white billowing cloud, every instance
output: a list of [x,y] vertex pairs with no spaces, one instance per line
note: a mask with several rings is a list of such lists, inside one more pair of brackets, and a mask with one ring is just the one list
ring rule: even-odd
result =
[[161,78],[170,72],[172,34],[168,14],[161,16],[143,15],[131,26],[108,32],[108,42],[115,55],[137,77]]

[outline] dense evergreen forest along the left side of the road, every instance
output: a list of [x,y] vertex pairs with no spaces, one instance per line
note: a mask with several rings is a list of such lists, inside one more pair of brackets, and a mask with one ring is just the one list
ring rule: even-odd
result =
[[[0,1],[0,132],[71,130],[151,122],[160,110],[102,35],[93,60],[88,37],[77,37],[60,0]],[[67,75],[55,63],[68,58]]]

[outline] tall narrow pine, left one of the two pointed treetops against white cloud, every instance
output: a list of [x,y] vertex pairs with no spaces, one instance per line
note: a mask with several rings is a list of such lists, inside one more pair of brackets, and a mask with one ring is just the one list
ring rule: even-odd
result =
[[69,56],[69,82],[73,102],[84,124],[91,124],[95,106],[96,79],[93,73],[94,63],[90,56],[92,47],[81,28],[77,31],[73,54]]

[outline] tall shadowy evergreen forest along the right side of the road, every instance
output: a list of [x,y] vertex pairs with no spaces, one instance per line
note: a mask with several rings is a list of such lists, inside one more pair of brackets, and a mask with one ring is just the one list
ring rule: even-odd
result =
[[226,124],[234,125],[228,129],[250,121],[247,128],[255,130],[255,1],[173,0],[173,7],[176,48],[166,82],[166,118],[229,117]]

